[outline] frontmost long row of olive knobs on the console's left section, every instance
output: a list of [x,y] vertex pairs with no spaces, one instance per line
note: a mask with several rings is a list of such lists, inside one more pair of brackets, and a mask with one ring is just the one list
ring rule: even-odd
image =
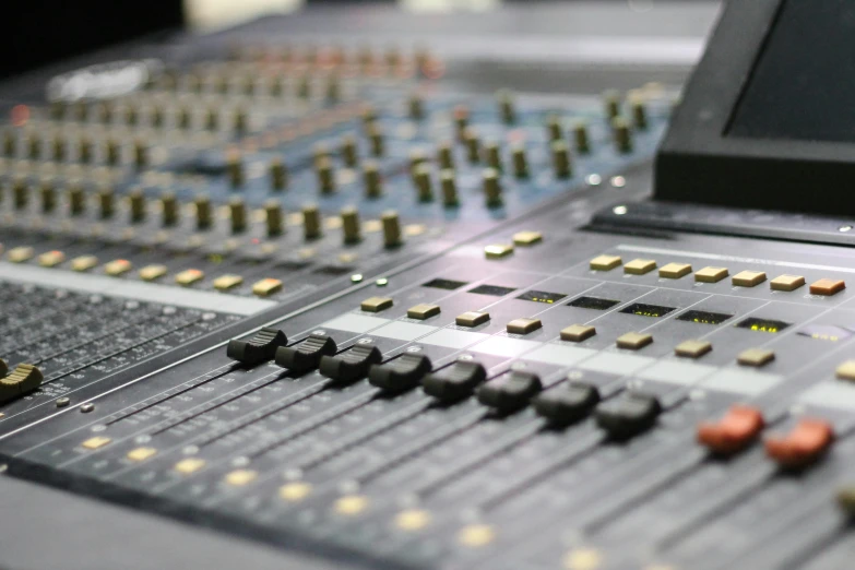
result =
[[[0,187],[0,203],[5,192]],[[31,189],[23,182],[12,186],[12,203],[16,210],[24,210],[29,203]],[[58,207],[57,190],[43,183],[39,188],[41,210],[52,213]],[[86,212],[88,194],[79,186],[72,186],[66,191],[68,211],[72,216],[82,216]],[[116,195],[111,190],[102,190],[97,193],[98,215],[102,219],[110,219],[116,214]],[[214,205],[206,197],[199,197],[193,201],[195,212],[195,227],[199,230],[207,230],[214,227]],[[228,203],[229,224],[233,234],[242,234],[248,228],[248,212],[245,202],[239,198],[233,198]],[[285,222],[282,206],[270,201],[263,206],[264,223],[269,237],[281,236],[285,233]],[[142,224],[149,216],[147,199],[142,190],[132,190],[128,194],[129,221],[132,224]],[[173,193],[161,197],[161,215],[165,227],[177,226],[180,222],[181,204]],[[319,239],[323,236],[321,213],[317,206],[309,205],[302,209],[304,237],[307,240]],[[355,207],[345,207],[341,212],[342,229],[345,244],[357,244],[361,240],[361,224],[359,212]],[[389,211],[381,215],[383,242],[387,247],[394,247],[402,242],[401,222],[396,212]]]

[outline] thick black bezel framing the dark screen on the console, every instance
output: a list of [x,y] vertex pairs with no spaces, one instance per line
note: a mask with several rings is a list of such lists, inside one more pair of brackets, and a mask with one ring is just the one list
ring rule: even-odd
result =
[[656,156],[657,200],[855,214],[844,192],[804,197],[855,179],[855,143],[727,134],[784,1],[726,4]]

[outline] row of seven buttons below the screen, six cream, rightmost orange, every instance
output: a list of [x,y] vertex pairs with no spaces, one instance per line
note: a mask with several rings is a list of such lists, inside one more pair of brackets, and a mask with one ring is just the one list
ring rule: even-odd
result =
[[[634,259],[624,264],[618,256],[598,256],[591,260],[590,268],[594,271],[611,271],[624,265],[624,273],[629,275],[645,275],[656,269],[656,262],[649,259]],[[668,263],[660,268],[660,277],[678,280],[692,272],[688,263]],[[708,266],[694,272],[694,281],[699,283],[719,283],[731,273],[727,268]],[[741,271],[731,278],[734,286],[756,287],[767,281],[762,271]],[[773,290],[792,292],[805,285],[805,277],[800,275],[779,275],[769,282]],[[831,296],[846,288],[846,283],[840,280],[819,280],[810,285],[811,295]]]

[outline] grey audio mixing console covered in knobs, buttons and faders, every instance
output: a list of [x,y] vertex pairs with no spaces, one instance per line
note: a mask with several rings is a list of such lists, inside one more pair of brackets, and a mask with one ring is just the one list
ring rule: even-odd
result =
[[848,568],[853,226],[664,170],[780,4],[725,12],[655,168],[674,88],[485,95],[424,47],[10,104],[3,473],[341,567]]

